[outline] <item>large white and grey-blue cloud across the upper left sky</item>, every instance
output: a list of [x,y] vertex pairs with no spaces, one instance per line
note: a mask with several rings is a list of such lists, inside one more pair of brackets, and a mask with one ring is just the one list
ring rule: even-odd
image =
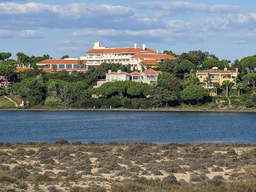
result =
[[95,3],[71,3],[65,6],[43,3],[0,3],[0,23],[5,27],[55,27],[106,26],[122,24],[134,15],[125,6]]

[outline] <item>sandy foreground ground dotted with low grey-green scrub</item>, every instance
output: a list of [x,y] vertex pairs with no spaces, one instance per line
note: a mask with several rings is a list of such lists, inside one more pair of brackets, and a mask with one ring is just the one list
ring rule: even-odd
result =
[[0,143],[0,163],[0,191],[239,191],[239,184],[253,191],[256,186],[256,146],[244,144]]

